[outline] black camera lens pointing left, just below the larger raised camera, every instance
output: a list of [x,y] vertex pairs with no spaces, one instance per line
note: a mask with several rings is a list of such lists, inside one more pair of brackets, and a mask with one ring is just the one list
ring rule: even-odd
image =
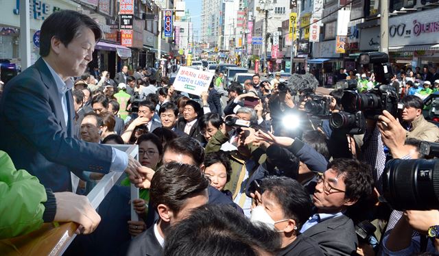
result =
[[363,134],[366,131],[366,118],[361,112],[340,111],[331,115],[329,125],[332,129],[341,129],[347,134]]

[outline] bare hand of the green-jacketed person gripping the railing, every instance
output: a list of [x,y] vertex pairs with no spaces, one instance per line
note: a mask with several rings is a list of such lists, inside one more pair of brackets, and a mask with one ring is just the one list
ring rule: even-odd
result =
[[56,222],[76,222],[80,225],[76,233],[92,233],[99,222],[101,216],[88,201],[86,196],[80,196],[71,192],[56,192]]

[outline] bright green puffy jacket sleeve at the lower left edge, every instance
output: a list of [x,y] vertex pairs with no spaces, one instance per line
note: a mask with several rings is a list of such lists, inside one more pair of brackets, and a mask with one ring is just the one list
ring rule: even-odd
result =
[[16,170],[9,155],[0,151],[0,239],[39,229],[46,201],[44,185],[29,172]]

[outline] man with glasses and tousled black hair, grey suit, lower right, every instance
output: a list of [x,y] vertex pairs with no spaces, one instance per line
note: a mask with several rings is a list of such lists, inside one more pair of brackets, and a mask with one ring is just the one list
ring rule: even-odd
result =
[[[313,214],[300,233],[316,240],[325,255],[353,255],[358,240],[354,223],[345,215],[352,205],[372,194],[372,168],[356,159],[337,158],[322,176],[318,175],[313,203]],[[363,209],[366,212],[366,209]]]

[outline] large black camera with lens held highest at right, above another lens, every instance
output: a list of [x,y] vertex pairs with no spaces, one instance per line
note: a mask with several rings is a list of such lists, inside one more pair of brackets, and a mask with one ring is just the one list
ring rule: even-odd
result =
[[392,86],[381,85],[364,94],[346,90],[342,97],[342,106],[346,112],[363,112],[365,118],[378,120],[378,116],[387,110],[392,116],[398,115],[398,94]]

